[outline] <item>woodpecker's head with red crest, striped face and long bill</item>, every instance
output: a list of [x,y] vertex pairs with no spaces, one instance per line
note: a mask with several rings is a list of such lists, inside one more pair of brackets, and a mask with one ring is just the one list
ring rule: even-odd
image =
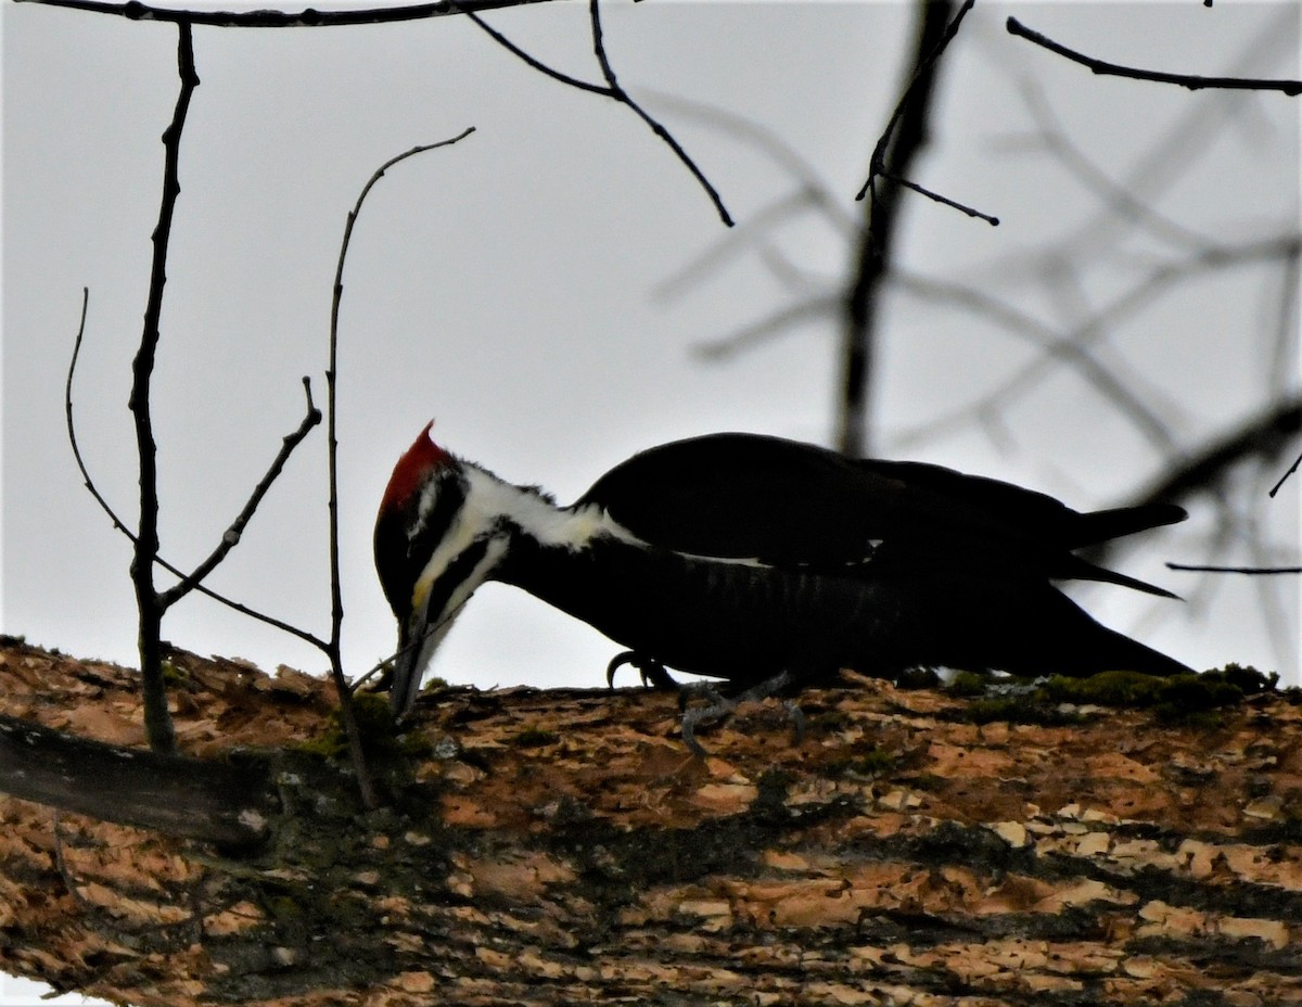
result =
[[398,620],[389,694],[396,715],[415,702],[434,651],[510,541],[501,516],[474,491],[492,477],[435,444],[432,426],[393,466],[375,521],[375,569]]

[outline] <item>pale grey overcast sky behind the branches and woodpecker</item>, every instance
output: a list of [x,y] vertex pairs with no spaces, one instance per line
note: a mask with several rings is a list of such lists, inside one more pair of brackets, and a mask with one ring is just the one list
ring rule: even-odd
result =
[[[1271,391],[1297,388],[1297,320],[1280,309],[1288,270],[1268,257],[1173,280],[1096,327],[1101,360],[1155,417],[1156,433],[1061,363],[1039,383],[1005,388],[1042,350],[1026,333],[922,294],[926,284],[962,284],[1066,332],[1199,248],[1295,234],[1298,99],[1095,77],[1010,36],[1004,22],[1014,13],[1117,63],[1297,78],[1298,10],[978,5],[947,55],[917,180],[1003,223],[910,198],[900,246],[909,283],[884,314],[878,453],[1103,507],[1156,478],[1164,453],[1197,449]],[[629,109],[540,77],[466,18],[195,30],[202,85],[184,139],[155,399],[163,551],[182,567],[207,555],[298,423],[301,376],[324,399],[331,283],[361,186],[413,145],[477,129],[381,180],[350,251],[340,440],[353,674],[395,641],[371,568],[371,525],[393,461],[431,417],[448,449],[562,502],[622,457],[680,436],[831,435],[829,315],[811,311],[725,361],[697,350],[835,291],[861,208],[853,194],[898,94],[911,10],[648,0],[603,12],[621,82],[708,175],[740,221],[734,232]],[[544,61],[599,79],[586,4],[486,20]],[[76,387],[82,449],[104,495],[133,515],[125,404],[158,214],[159,135],[176,99],[176,30],[27,4],[7,5],[3,25],[3,629],[134,663],[128,543],[79,487],[62,383],[89,287]],[[1070,154],[1048,152],[1049,116]],[[780,138],[807,175],[732,117]],[[1160,219],[1109,215],[1091,171]],[[792,208],[802,184],[831,202]],[[987,397],[983,422],[966,417],[923,436],[931,421]],[[211,586],[326,633],[324,494],[316,431]],[[1262,499],[1262,487],[1254,494]],[[1256,508],[1280,546],[1272,561],[1297,563],[1298,494],[1294,481]],[[1238,660],[1295,680],[1295,584],[1266,597],[1242,578],[1199,586],[1163,568],[1202,560],[1212,525],[1203,508],[1120,560],[1190,603],[1116,588],[1078,598],[1191,664]],[[1273,629],[1263,612],[1275,612]],[[323,668],[316,651],[197,595],[169,612],[164,633],[268,668]],[[436,672],[482,687],[596,685],[615,653],[587,627],[490,586],[467,606]]]

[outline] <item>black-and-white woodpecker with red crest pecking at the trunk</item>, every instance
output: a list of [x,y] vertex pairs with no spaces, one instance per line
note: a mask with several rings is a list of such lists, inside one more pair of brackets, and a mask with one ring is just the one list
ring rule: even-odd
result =
[[1073,552],[1184,520],[1173,504],[1079,513],[936,465],[712,434],[634,455],[559,507],[448,453],[430,426],[395,466],[375,525],[398,619],[398,715],[487,580],[591,624],[630,649],[617,662],[631,657],[658,680],[669,666],[756,696],[841,668],[1190,671],[1052,584],[1174,597]]

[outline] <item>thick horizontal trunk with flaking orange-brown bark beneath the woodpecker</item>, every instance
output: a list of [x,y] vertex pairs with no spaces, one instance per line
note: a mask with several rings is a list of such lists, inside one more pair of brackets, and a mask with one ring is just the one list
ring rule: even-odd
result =
[[[848,677],[802,697],[803,744],[756,705],[702,759],[672,696],[444,689],[368,733],[365,812],[327,683],[167,670],[186,757],[155,787],[206,765],[260,843],[0,799],[0,969],[139,1007],[1302,1003],[1286,694],[975,723],[988,701]],[[138,748],[137,697],[133,671],[0,649],[5,715]],[[69,773],[134,821],[137,792]]]

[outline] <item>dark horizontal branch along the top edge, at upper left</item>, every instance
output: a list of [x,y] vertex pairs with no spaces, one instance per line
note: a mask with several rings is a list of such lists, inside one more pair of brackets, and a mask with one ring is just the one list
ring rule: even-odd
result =
[[548,3],[548,0],[437,0],[409,7],[375,7],[355,10],[184,10],[152,7],[128,0],[122,4],[102,0],[16,0],[44,7],[64,7],[95,14],[115,14],[129,21],[164,21],[173,25],[207,25],[211,27],[339,27],[345,25],[388,25],[398,21],[422,21],[430,17],[469,14],[475,10],[500,10],[505,7]]

